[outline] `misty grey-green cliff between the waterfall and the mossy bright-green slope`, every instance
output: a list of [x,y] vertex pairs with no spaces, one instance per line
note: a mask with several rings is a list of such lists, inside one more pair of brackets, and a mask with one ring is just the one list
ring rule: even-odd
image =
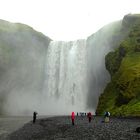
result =
[[87,38],[87,67],[88,67],[88,98],[87,106],[97,107],[99,95],[110,81],[110,75],[105,67],[105,56],[113,51],[126,36],[121,30],[122,21],[105,25]]

